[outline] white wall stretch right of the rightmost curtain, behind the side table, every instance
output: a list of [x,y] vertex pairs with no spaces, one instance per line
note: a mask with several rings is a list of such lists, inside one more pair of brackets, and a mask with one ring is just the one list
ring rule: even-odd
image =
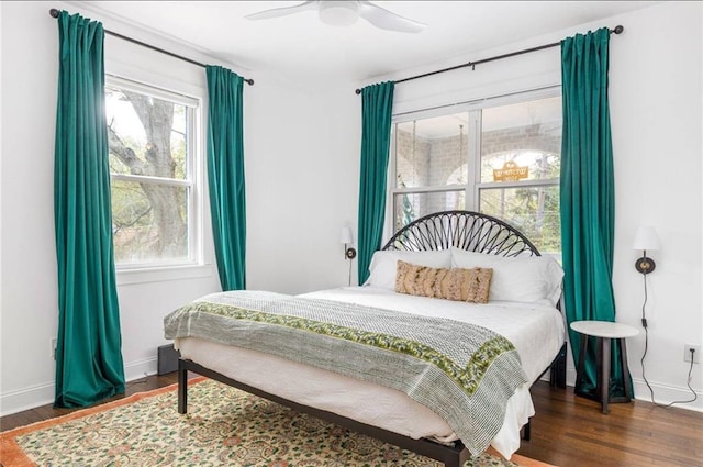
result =
[[[661,251],[650,252],[657,269],[647,277],[649,345],[646,376],[656,400],[690,400],[683,362],[685,343],[703,343],[701,170],[702,3],[665,2],[625,16],[623,45],[613,44],[611,115],[615,160],[615,260],[613,286],[618,321],[638,325],[644,302],[641,275],[632,249],[639,225],[654,225]],[[641,330],[641,326],[638,325]],[[633,340],[635,393],[650,400],[639,360],[644,334]],[[703,362],[703,360],[701,360]],[[693,368],[694,404],[703,410],[703,371]]]

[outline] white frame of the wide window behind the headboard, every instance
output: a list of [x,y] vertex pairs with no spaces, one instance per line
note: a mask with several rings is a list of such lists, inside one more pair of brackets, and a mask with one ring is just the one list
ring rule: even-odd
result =
[[[415,193],[442,193],[451,191],[464,191],[465,205],[469,211],[480,212],[480,194],[482,189],[491,188],[522,188],[522,187],[559,187],[559,178],[540,179],[540,180],[517,180],[517,181],[481,181],[481,111],[493,107],[510,105],[514,103],[536,101],[542,99],[561,97],[561,86],[548,86],[539,89],[513,92],[504,96],[494,96],[484,99],[471,100],[466,102],[449,103],[438,105],[431,109],[422,109],[393,114],[391,118],[391,144],[389,155],[389,167],[387,174],[387,200],[386,200],[386,221],[384,237],[390,237],[395,233],[395,197],[399,194]],[[395,129],[399,123],[412,122],[413,120],[423,120],[437,118],[443,115],[467,112],[468,125],[467,137],[468,144],[465,148],[468,152],[467,166],[475,169],[468,170],[466,174],[466,184],[442,185],[442,186],[424,186],[411,188],[397,187],[397,137]],[[556,257],[556,256],[555,256]]]

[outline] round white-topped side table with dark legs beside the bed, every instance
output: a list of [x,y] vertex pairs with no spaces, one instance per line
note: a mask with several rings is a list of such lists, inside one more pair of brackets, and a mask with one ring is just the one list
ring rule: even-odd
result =
[[[576,371],[574,393],[578,396],[595,399],[601,402],[603,413],[607,413],[609,402],[629,402],[633,398],[631,391],[631,376],[627,369],[627,349],[625,345],[626,337],[634,337],[639,334],[637,329],[622,323],[613,323],[610,321],[574,321],[571,329],[580,334],[581,353],[579,354],[579,363]],[[595,396],[585,393],[582,390],[583,369],[585,365],[585,353],[588,351],[589,336],[595,337],[596,356],[598,356],[598,375]],[[615,341],[615,345],[620,347],[621,370],[623,376],[623,385],[625,387],[625,397],[612,399],[610,397],[610,376],[611,376],[611,342]]]

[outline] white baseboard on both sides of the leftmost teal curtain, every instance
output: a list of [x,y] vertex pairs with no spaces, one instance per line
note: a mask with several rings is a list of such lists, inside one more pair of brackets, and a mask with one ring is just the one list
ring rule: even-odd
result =
[[[129,382],[156,375],[156,357],[132,362],[124,366],[124,378]],[[55,390],[52,381],[3,393],[0,396],[0,416],[54,403]]]

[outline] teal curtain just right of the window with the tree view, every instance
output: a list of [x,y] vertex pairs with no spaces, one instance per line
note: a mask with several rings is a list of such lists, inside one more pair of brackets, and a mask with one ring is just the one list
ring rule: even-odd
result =
[[242,87],[244,79],[207,66],[209,97],[208,185],[222,290],[246,288],[246,204]]

